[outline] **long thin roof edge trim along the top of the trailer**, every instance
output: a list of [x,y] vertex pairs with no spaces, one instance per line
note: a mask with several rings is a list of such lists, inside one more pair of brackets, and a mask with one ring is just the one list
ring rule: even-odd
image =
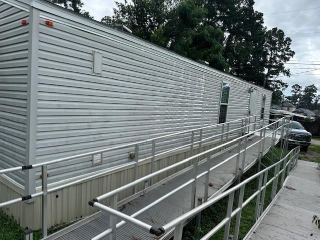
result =
[[[266,89],[266,88],[264,88],[262,86],[259,86],[259,85],[255,85],[252,82],[245,81],[245,80],[243,80],[243,79],[241,79],[239,77],[236,77],[236,76],[234,76],[232,74],[220,71],[220,70],[215,69],[215,68],[210,67],[210,66],[203,65],[203,64],[201,64],[201,63],[199,63],[199,62],[197,62],[197,61],[195,61],[195,60],[193,60],[191,58],[182,56],[182,55],[180,55],[180,54],[178,54],[176,52],[173,52],[173,51],[171,51],[169,49],[166,49],[164,47],[158,46],[158,45],[156,45],[156,44],[154,44],[152,42],[144,40],[144,39],[142,39],[142,38],[140,38],[138,36],[135,36],[133,34],[129,34],[127,32],[118,30],[118,29],[116,29],[116,28],[114,28],[112,26],[109,26],[107,24],[104,24],[104,23],[102,23],[100,21],[85,17],[80,13],[76,13],[74,11],[70,11],[70,10],[68,10],[68,9],[66,9],[66,8],[64,8],[62,6],[54,4],[54,3],[49,2],[47,0],[1,0],[1,1],[3,1],[3,2],[7,3],[7,4],[11,4],[11,5],[15,6],[15,7],[21,8],[21,9],[23,9],[25,11],[29,10],[27,6],[32,6],[32,7],[36,8],[36,9],[39,9],[39,10],[41,10],[43,12],[47,12],[49,14],[56,15],[58,17],[67,19],[67,20],[72,21],[72,22],[76,22],[78,24],[85,25],[87,27],[90,27],[90,28],[93,28],[93,29],[96,29],[96,30],[103,31],[103,29],[108,29],[108,30],[113,31],[114,33],[117,33],[117,34],[120,34],[120,35],[123,35],[123,36],[126,36],[126,37],[130,37],[130,38],[133,38],[133,39],[135,38],[135,39],[137,39],[139,41],[142,41],[142,42],[146,43],[147,44],[146,47],[148,47],[148,48],[150,48],[152,50],[159,51],[159,49],[162,49],[162,50],[164,50],[164,51],[166,51],[168,53],[171,53],[173,57],[175,57],[175,58],[177,58],[179,60],[182,60],[182,61],[188,60],[191,64],[196,65],[197,67],[200,67],[202,69],[214,70],[214,71],[217,71],[217,73],[222,74],[224,77],[231,77],[231,78],[233,78],[233,80],[241,81],[243,83],[251,85],[252,87],[260,88],[260,89],[266,90],[266,91],[268,91],[270,93],[273,92],[272,90]],[[93,27],[92,24],[95,27]],[[85,30],[85,29],[83,29],[83,30]],[[91,32],[91,33],[94,33],[94,32]],[[95,33],[95,34],[97,34],[97,33]]]

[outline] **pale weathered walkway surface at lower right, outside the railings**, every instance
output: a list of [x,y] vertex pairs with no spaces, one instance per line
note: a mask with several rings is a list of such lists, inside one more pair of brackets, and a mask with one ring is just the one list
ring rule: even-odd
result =
[[278,198],[247,240],[315,240],[320,229],[311,223],[320,216],[320,170],[299,160]]

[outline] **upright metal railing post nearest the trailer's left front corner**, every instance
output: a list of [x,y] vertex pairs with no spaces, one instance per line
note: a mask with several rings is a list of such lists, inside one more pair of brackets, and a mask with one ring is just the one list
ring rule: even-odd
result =
[[48,218],[48,171],[47,165],[41,167],[41,187],[42,187],[42,238],[47,237],[47,218]]

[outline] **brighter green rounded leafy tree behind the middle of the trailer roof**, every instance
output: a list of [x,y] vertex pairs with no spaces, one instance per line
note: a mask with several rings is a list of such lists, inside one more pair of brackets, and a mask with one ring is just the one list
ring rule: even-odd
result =
[[[228,71],[228,65],[222,56],[223,32],[219,28],[202,24],[206,14],[207,9],[197,5],[195,0],[179,3],[174,9],[173,17],[164,26],[164,35],[169,41],[168,48],[194,60],[205,60],[210,66],[222,71]],[[158,44],[159,41],[155,43]]]

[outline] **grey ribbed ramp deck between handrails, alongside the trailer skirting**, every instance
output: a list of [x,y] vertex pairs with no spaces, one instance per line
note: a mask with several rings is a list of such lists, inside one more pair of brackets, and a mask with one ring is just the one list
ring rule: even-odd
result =
[[[267,131],[268,132],[268,131]],[[280,135],[276,134],[276,141],[278,141]],[[248,139],[247,146],[254,143],[259,139],[259,136],[253,135],[250,139]],[[241,144],[241,149],[244,148],[244,144]],[[264,142],[264,153],[271,146],[271,136],[267,137]],[[257,160],[257,150],[258,145],[254,145],[253,147],[246,150],[245,155],[245,169],[249,169]],[[237,146],[229,149],[228,151],[215,156],[211,159],[210,166],[214,166],[227,157],[230,157],[237,153]],[[242,159],[242,154],[240,155],[240,161]],[[200,164],[198,166],[198,173],[205,171],[207,168],[206,164]],[[209,192],[208,196],[213,196],[218,194],[221,191],[224,191],[228,186],[230,186],[234,181],[234,171],[235,171],[235,157],[232,158],[227,163],[221,165],[217,169],[213,170],[210,173],[209,178]],[[150,190],[144,196],[140,196],[122,206],[118,209],[122,209],[122,213],[131,215],[148,204],[152,203],[154,200],[163,196],[164,194],[170,192],[181,184],[187,182],[192,177],[192,169],[176,176],[175,178],[169,180],[168,182]],[[201,177],[196,182],[196,198],[203,197],[204,194],[204,184],[205,184],[205,176]],[[172,195],[165,201],[159,203],[152,209],[146,211],[137,217],[137,219],[151,224],[153,226],[162,226],[165,223],[175,219],[181,214],[190,210],[191,205],[191,186],[188,186],[176,194]],[[117,220],[118,222],[120,220]],[[109,215],[106,213],[99,212],[93,216],[90,216],[81,222],[78,222],[71,225],[70,227],[57,232],[47,239],[57,239],[57,240],[88,240],[92,237],[100,234],[101,232],[107,230],[109,228]],[[108,237],[104,237],[103,239],[108,239]],[[123,227],[116,230],[116,239],[117,240],[154,240],[154,239],[165,239],[156,238],[154,235],[145,233],[135,226],[131,224],[126,224]]]

